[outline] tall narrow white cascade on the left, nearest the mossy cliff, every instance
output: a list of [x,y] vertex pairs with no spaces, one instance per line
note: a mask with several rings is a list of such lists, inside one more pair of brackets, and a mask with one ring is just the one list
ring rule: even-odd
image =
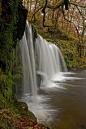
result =
[[35,68],[35,56],[33,48],[33,36],[31,25],[26,21],[26,30],[24,36],[20,42],[20,50],[22,55],[23,65],[23,94],[31,93],[33,95],[33,101],[37,96],[37,82],[36,82],[36,68]]

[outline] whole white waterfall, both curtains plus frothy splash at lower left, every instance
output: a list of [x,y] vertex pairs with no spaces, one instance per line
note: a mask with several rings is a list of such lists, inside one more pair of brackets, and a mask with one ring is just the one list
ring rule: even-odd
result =
[[[58,81],[58,78],[62,80],[63,77],[60,76],[60,73],[67,72],[63,55],[56,45],[47,42],[40,35],[38,35],[35,47],[33,47],[32,28],[27,21],[19,48],[16,54],[22,60],[20,61],[22,62],[22,83],[20,84],[21,88],[19,86],[21,89],[19,99],[27,103],[29,110],[35,114],[38,121],[47,120],[47,117],[49,120],[49,106],[46,106],[45,110],[45,106],[42,105],[42,102],[46,104],[46,98],[38,95],[38,84],[40,90],[42,86],[45,89],[59,87],[55,81]],[[16,60],[18,60],[17,58]],[[18,90],[18,87],[16,89]]]

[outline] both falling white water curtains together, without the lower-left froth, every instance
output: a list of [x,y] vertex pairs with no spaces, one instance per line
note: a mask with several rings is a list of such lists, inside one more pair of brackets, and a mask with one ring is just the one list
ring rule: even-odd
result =
[[[53,81],[62,80],[61,73],[67,72],[67,67],[60,49],[40,35],[35,41],[35,48],[33,47],[32,28],[28,21],[26,21],[26,29],[19,45],[23,67],[22,94],[32,94],[35,102],[37,83],[39,86],[56,86]],[[40,81],[38,78],[41,78]]]

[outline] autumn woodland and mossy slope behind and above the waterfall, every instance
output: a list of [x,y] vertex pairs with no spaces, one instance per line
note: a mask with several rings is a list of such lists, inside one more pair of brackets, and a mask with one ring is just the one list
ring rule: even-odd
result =
[[24,0],[23,5],[38,33],[61,49],[68,68],[85,68],[85,0]]

